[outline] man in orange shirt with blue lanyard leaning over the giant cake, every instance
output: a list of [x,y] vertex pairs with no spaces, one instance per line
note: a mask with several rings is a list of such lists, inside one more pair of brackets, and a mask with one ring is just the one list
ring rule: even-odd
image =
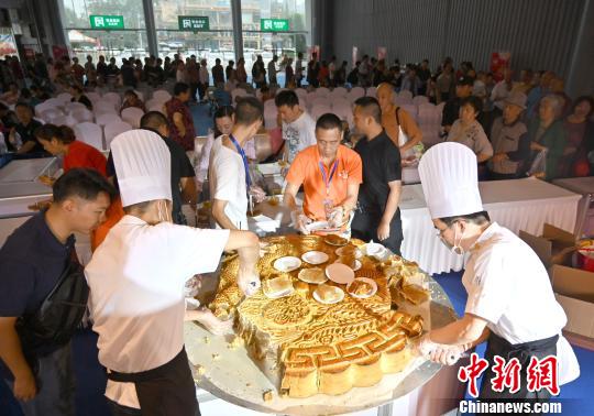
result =
[[[316,123],[317,144],[299,152],[290,165],[283,200],[304,234],[309,234],[307,226],[312,221],[343,229],[356,205],[363,167],[359,154],[340,144],[342,134],[337,116],[321,116]],[[299,209],[295,197],[301,185],[305,200]]]

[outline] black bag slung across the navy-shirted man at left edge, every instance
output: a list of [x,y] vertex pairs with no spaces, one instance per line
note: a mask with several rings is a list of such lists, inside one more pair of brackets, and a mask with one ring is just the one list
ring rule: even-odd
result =
[[45,351],[48,347],[66,344],[82,320],[88,298],[89,286],[85,270],[80,263],[68,259],[58,283],[40,308],[16,319],[16,331],[23,350],[33,352],[43,348]]

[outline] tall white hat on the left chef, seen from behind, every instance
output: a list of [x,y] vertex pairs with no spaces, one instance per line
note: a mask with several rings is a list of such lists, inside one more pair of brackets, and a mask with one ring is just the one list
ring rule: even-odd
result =
[[122,206],[155,199],[172,200],[172,156],[161,136],[130,130],[111,142]]

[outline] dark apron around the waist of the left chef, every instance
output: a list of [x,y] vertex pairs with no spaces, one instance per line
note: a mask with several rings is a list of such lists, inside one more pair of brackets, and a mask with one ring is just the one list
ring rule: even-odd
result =
[[134,383],[143,416],[200,416],[186,349],[169,362],[139,373],[110,371],[109,380]]

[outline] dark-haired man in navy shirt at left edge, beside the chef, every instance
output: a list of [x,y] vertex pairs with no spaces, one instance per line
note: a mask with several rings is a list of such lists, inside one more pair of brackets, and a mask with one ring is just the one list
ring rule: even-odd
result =
[[74,415],[70,342],[21,342],[16,320],[40,308],[74,254],[75,232],[89,233],[106,218],[112,187],[92,169],[75,168],[56,180],[54,201],[31,217],[0,249],[0,374],[25,415]]

